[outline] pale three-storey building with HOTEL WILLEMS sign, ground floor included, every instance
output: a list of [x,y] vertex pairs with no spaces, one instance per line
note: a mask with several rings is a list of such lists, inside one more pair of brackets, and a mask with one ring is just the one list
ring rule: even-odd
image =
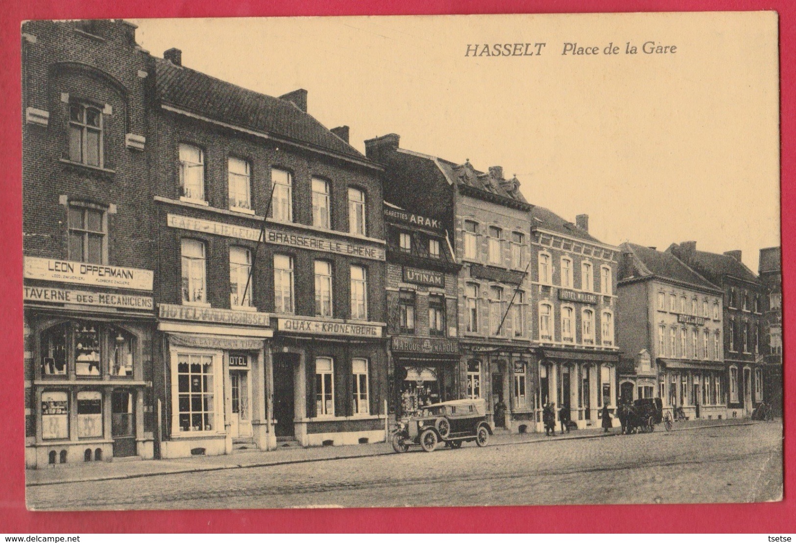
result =
[[618,248],[588,233],[588,215],[573,224],[536,206],[530,217],[537,429],[548,403],[579,429],[599,425],[603,405],[616,413]]

